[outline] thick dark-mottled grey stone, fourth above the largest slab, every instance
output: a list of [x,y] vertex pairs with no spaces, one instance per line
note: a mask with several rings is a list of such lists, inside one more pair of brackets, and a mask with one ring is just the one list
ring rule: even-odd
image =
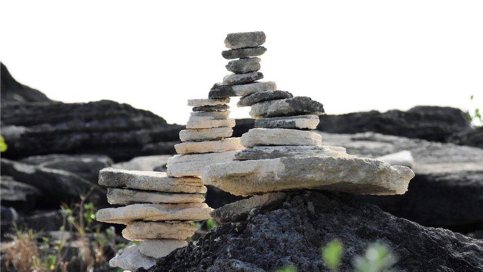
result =
[[297,96],[253,104],[250,110],[250,116],[257,119],[303,114],[322,115],[324,114],[324,107],[321,103],[308,97]]

